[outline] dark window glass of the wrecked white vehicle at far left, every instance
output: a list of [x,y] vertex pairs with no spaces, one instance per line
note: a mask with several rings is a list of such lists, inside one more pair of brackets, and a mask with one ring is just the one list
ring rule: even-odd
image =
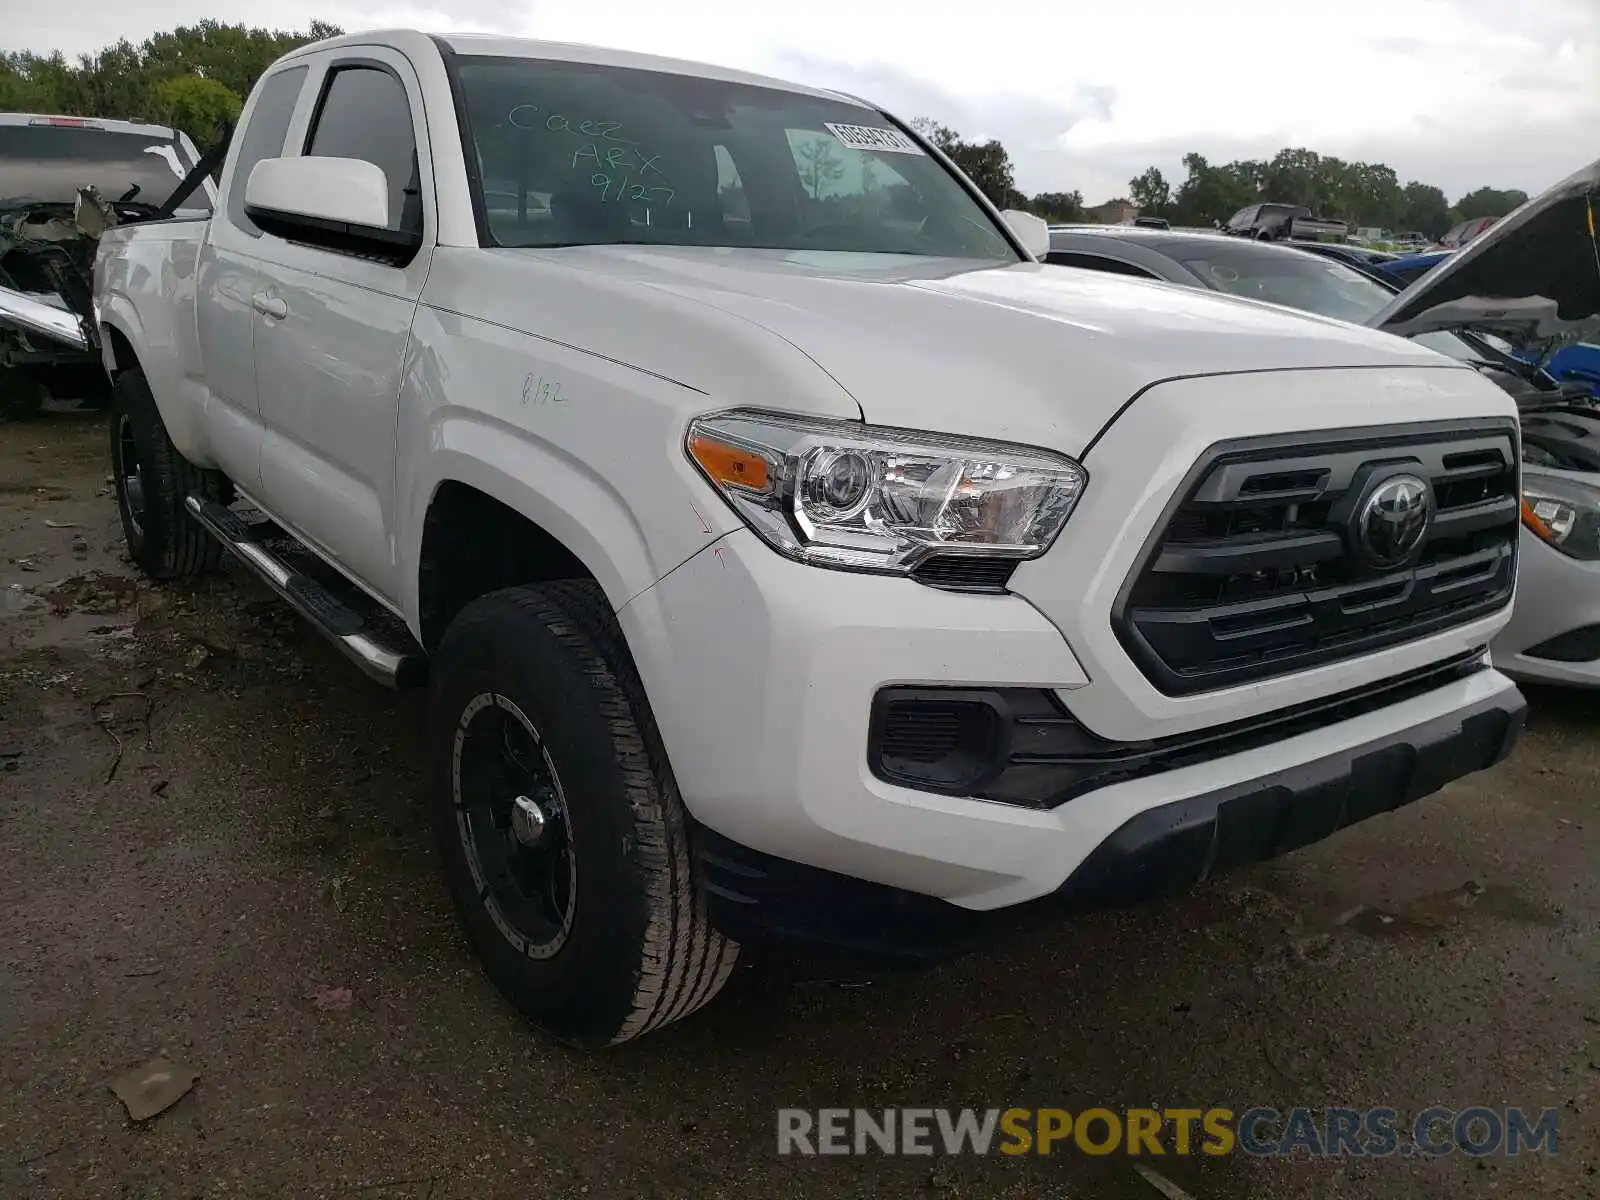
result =
[[[0,205],[72,203],[80,187],[94,187],[104,200],[158,205],[192,166],[170,134],[0,125]],[[197,187],[184,208],[210,211],[205,189]]]

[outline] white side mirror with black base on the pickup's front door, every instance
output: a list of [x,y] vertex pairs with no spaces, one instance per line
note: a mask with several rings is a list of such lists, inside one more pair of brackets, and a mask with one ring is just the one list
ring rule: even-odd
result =
[[245,182],[245,216],[264,234],[395,266],[422,246],[422,230],[389,227],[389,178],[360,158],[262,158]]

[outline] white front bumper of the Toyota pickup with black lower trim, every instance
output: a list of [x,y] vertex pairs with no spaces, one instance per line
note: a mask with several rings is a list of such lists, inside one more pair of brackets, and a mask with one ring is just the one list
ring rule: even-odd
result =
[[[869,770],[867,746],[872,699],[890,685],[1054,688],[1070,706],[1088,680],[1061,632],[1021,597],[802,566],[738,531],[619,618],[690,813],[723,850],[749,851],[725,858],[803,864],[970,910],[1048,896],[1083,870],[1083,880],[1138,874],[1133,859],[1146,851],[1131,853],[1130,837],[1192,845],[1203,824],[1195,813],[1208,806],[1227,862],[1250,858],[1235,845],[1258,858],[1302,845],[1302,813],[1322,837],[1496,762],[1522,710],[1515,686],[1483,669],[1056,808],[1022,808],[886,782]],[[1322,805],[1338,813],[1310,818]],[[728,880],[715,886],[744,894]]]

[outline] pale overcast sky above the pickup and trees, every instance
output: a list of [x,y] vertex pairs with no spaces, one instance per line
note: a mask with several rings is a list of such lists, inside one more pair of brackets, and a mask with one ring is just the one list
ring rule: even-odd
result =
[[762,70],[1000,138],[1027,194],[1307,146],[1451,200],[1600,155],[1600,0],[0,0],[0,48],[77,54],[205,16],[592,42]]

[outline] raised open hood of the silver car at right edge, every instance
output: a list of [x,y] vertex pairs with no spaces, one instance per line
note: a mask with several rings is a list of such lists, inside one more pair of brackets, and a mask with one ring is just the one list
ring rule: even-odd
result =
[[1371,325],[1493,330],[1517,342],[1600,333],[1600,162],[1522,205],[1394,298]]

